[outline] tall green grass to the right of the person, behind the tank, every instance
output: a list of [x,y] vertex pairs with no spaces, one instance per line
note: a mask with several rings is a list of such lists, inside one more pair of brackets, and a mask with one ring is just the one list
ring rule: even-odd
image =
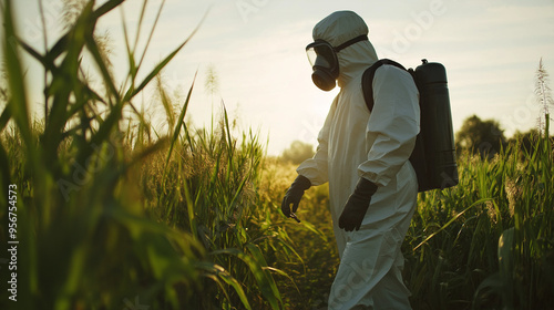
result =
[[417,309],[554,304],[553,149],[520,144],[491,161],[465,153],[456,187],[420,195],[404,242]]

